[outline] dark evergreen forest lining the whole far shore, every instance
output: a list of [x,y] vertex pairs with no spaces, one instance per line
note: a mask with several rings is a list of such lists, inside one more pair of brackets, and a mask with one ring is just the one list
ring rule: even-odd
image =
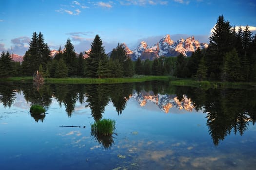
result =
[[191,57],[180,54],[177,57],[159,57],[153,61],[140,58],[131,61],[125,47],[118,43],[110,56],[99,35],[91,43],[88,58],[81,52],[76,56],[74,45],[68,38],[64,50],[51,57],[51,51],[44,42],[43,34],[33,33],[29,49],[23,62],[12,61],[11,54],[2,52],[0,77],[32,76],[39,70],[44,77],[132,77],[138,75],[170,75],[197,80],[256,81],[256,35],[252,36],[248,25],[238,31],[229,21],[219,16],[209,38],[209,47],[198,48]]

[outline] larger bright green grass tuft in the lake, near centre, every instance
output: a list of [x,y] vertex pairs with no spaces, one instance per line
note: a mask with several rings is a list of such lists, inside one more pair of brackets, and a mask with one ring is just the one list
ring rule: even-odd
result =
[[116,122],[111,119],[101,119],[91,124],[91,134],[93,136],[109,136],[115,130]]

